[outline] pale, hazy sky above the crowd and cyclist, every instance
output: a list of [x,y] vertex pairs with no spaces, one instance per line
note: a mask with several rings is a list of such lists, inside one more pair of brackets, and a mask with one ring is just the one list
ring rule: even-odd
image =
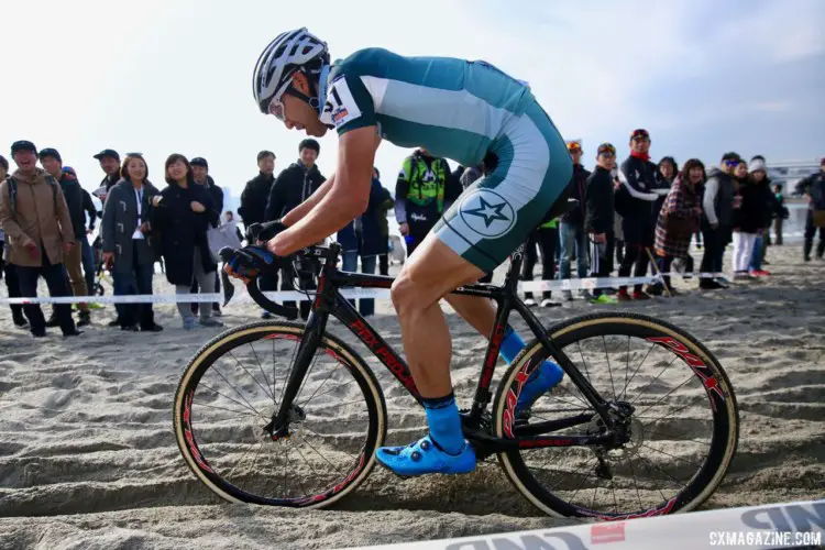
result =
[[[107,147],[143,153],[156,184],[169,154],[206,157],[235,197],[258,151],[276,172],[295,162],[305,135],[260,113],[252,70],[299,26],[333,59],[381,46],[493,63],[530,82],[587,166],[604,141],[626,156],[635,128],[654,160],[825,156],[821,0],[38,0],[8,2],[2,26],[0,153],[11,161],[21,139],[55,147],[89,190]],[[320,143],[329,175],[334,132]],[[391,190],[409,153],[378,150]]]

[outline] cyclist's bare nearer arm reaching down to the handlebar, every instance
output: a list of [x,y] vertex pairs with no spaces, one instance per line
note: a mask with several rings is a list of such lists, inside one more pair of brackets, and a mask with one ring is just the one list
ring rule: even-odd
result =
[[361,216],[370,200],[375,150],[380,143],[375,125],[356,128],[341,135],[334,185],[302,219],[270,241],[270,250],[279,256],[289,255],[322,241]]

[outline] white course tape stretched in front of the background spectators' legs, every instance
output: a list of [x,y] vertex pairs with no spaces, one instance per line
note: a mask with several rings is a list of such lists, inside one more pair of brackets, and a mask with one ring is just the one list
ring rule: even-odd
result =
[[[674,277],[693,276],[697,278],[715,278],[722,273],[673,273],[666,274]],[[616,288],[618,286],[654,284],[661,280],[659,275],[645,277],[604,277],[604,278],[573,278],[564,280],[526,280],[519,283],[519,290],[527,293],[542,293],[548,290],[593,290],[595,288]],[[308,290],[306,294],[297,290],[280,290],[274,293],[264,293],[264,295],[274,301],[306,301],[315,298],[315,292]],[[342,288],[341,294],[348,299],[358,298],[389,298],[388,288]],[[246,294],[240,294],[232,298],[230,304],[250,304],[252,298]],[[26,304],[195,304],[195,302],[223,302],[221,294],[148,294],[132,296],[63,296],[59,298],[40,297],[40,298],[0,298],[0,305],[26,305]]]

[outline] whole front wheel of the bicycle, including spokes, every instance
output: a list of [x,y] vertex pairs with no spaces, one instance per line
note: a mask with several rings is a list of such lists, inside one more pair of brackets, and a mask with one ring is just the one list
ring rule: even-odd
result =
[[370,474],[386,436],[373,372],[324,334],[289,411],[289,436],[265,430],[280,405],[304,326],[258,322],[201,348],[175,394],[174,427],[195,475],[229,502],[318,508]]

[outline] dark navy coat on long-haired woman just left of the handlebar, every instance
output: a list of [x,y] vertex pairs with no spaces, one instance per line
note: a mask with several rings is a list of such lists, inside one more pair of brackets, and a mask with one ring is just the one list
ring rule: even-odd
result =
[[[160,245],[166,279],[173,285],[191,285],[195,249],[200,251],[204,272],[218,268],[207,241],[207,229],[218,227],[218,212],[212,197],[202,186],[190,183],[186,188],[170,184],[161,191],[161,204],[152,210],[152,229],[160,231]],[[206,210],[195,212],[190,202],[198,201]]]

